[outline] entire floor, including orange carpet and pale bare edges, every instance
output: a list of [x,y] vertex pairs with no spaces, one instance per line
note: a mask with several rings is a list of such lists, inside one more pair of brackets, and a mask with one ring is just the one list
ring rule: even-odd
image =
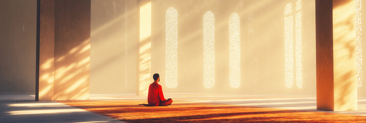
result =
[[139,106],[146,97],[132,94],[91,95],[83,101],[15,97],[0,95],[1,122],[366,122],[362,98],[357,111],[332,112],[316,110],[316,98],[305,96],[166,94],[173,98],[168,107]]

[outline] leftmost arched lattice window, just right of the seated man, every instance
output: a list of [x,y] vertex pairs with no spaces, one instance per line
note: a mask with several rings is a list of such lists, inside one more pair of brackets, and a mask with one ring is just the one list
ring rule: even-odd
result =
[[165,85],[168,88],[177,86],[177,28],[178,12],[173,7],[170,7],[165,16]]

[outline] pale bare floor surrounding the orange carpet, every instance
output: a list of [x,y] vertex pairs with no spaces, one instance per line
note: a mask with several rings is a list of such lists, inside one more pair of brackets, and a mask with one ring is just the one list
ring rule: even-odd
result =
[[[316,98],[306,96],[166,94],[166,98],[173,98],[172,105],[174,105],[174,103],[179,103],[179,105],[184,105],[185,103],[206,103],[366,116],[366,98],[359,98],[357,111],[342,112],[316,110]],[[32,99],[34,99],[34,96],[32,95],[0,95],[1,122],[122,122],[105,115],[65,105],[67,103],[64,104],[57,101],[32,101]],[[147,101],[144,101],[146,100],[146,96],[136,96],[133,94],[90,96],[91,102],[107,100],[128,101],[130,103],[129,105],[147,103]],[[85,102],[88,101],[85,100]],[[120,113],[119,115],[123,115],[123,113]],[[144,121],[144,119],[139,121]]]

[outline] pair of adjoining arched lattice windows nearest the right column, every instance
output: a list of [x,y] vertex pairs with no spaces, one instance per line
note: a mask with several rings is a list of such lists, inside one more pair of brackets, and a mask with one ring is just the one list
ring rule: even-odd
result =
[[286,88],[292,88],[294,78],[296,81],[297,88],[302,88],[301,18],[302,18],[301,0],[298,0],[296,2],[295,10],[293,9],[291,3],[289,3],[284,9],[284,64],[285,64],[284,72],[285,72]]

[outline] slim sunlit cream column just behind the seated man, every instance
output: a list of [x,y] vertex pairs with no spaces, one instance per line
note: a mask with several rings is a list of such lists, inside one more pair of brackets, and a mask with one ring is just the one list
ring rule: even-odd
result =
[[151,0],[139,1],[139,67],[137,95],[147,95],[153,81],[151,75]]

